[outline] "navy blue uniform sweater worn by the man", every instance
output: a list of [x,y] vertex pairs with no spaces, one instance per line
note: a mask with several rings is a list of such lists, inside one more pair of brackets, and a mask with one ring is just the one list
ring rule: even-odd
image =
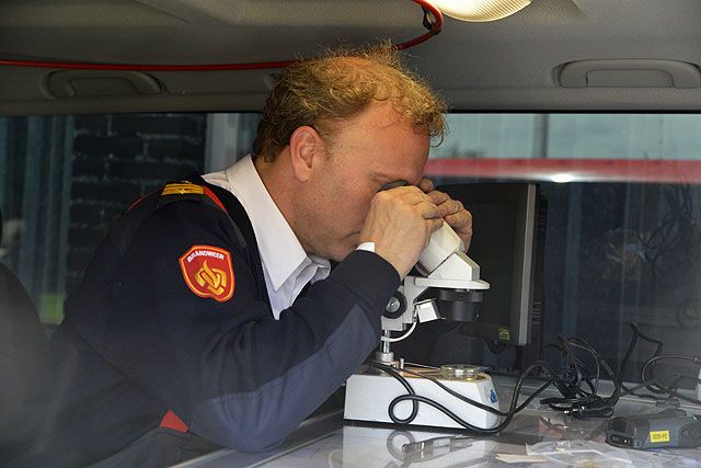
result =
[[[156,193],[102,243],[14,425],[19,465],[94,463],[157,427],[169,410],[216,444],[265,449],[377,345],[400,282],[388,262],[350,253],[276,321],[245,212],[207,186],[226,212],[187,197],[161,204]],[[181,258],[194,246],[229,253],[232,275],[220,258],[210,261],[232,276],[214,285],[223,286],[218,296],[203,295],[209,284],[196,285],[192,271],[188,285]]]

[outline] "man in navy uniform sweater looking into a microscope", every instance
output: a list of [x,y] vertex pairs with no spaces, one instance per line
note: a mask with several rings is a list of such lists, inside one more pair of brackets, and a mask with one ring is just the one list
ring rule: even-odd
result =
[[430,233],[445,220],[469,244],[469,213],[422,180],[443,111],[391,53],[287,69],[254,159],[147,196],[101,246],[25,401],[16,464],[281,443],[376,347]]

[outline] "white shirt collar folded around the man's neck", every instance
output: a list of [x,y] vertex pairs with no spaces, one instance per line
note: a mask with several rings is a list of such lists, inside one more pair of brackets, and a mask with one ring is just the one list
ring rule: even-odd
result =
[[249,215],[261,260],[275,290],[309,260],[321,266],[329,266],[327,260],[307,255],[265,189],[250,155],[228,168],[225,174],[231,192]]

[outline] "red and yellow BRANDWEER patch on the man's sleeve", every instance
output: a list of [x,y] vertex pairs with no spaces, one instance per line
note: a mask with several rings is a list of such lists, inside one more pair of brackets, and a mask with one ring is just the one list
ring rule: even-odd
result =
[[231,254],[218,247],[193,246],[180,258],[180,269],[189,289],[219,303],[231,299],[235,278]]

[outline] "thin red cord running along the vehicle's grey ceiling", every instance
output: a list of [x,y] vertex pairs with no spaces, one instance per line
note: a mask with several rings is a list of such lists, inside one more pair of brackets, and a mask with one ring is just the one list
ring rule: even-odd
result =
[[[443,27],[443,14],[426,0],[412,0],[430,12],[434,24],[430,31],[423,36],[394,46],[398,50],[404,50],[438,34]],[[268,61],[261,64],[219,64],[219,65],[118,65],[118,64],[72,64],[61,61],[33,61],[33,60],[4,60],[0,59],[0,66],[34,67],[34,68],[66,68],[72,70],[138,70],[138,71],[214,71],[214,70],[253,70],[261,68],[285,68],[300,60]]]

